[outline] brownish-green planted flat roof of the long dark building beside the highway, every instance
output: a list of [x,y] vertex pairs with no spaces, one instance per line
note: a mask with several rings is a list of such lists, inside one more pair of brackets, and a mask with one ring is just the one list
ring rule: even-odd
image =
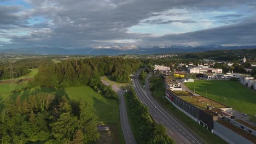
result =
[[194,106],[198,107],[199,109],[206,109],[207,106],[211,106],[214,108],[226,108],[227,106],[217,103],[216,101],[213,101],[211,99],[207,99],[202,96],[194,96],[194,97],[179,97],[185,101],[187,101],[190,104],[193,104]]

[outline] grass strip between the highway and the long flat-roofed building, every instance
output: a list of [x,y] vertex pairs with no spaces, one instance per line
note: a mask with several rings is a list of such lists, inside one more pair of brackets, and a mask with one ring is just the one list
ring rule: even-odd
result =
[[174,107],[170,101],[168,101],[165,97],[165,88],[164,81],[161,77],[150,77],[150,83],[158,83],[156,88],[153,90],[153,97],[158,100],[158,102],[165,107],[170,113],[172,113],[176,118],[179,119],[182,123],[184,123],[193,133],[199,136],[205,143],[226,143],[224,140],[220,139],[215,134],[212,134],[210,131],[203,128],[201,125],[196,123],[193,119],[189,118],[183,112],[179,111],[176,107]]

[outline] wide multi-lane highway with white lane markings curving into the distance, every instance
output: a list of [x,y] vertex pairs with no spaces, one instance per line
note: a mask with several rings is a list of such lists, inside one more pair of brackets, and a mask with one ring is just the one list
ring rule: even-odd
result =
[[157,123],[161,123],[165,126],[167,134],[172,137],[176,143],[203,143],[199,137],[193,134],[183,123],[179,122],[171,113],[162,107],[158,101],[156,101],[152,95],[149,93],[149,82],[146,79],[146,91],[143,90],[141,85],[139,85],[138,71],[133,77],[133,88],[138,95],[139,100],[149,107],[150,115],[155,119]]

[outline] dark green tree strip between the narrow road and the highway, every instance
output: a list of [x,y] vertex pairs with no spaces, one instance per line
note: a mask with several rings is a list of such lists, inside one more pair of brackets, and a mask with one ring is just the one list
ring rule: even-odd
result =
[[131,123],[136,130],[137,143],[174,143],[166,134],[165,127],[162,124],[153,122],[148,108],[139,101],[133,89],[129,91],[127,99],[128,109],[131,111]]

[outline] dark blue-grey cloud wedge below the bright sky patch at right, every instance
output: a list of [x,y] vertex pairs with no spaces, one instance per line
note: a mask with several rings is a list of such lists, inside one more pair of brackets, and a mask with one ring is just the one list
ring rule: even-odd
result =
[[[195,31],[183,34],[168,34],[158,38],[146,38],[144,42],[161,44],[237,44],[249,45],[256,44],[256,21],[238,23],[236,25],[223,26],[201,31]],[[147,42],[146,42],[147,43]],[[149,42],[150,43],[150,42]]]

